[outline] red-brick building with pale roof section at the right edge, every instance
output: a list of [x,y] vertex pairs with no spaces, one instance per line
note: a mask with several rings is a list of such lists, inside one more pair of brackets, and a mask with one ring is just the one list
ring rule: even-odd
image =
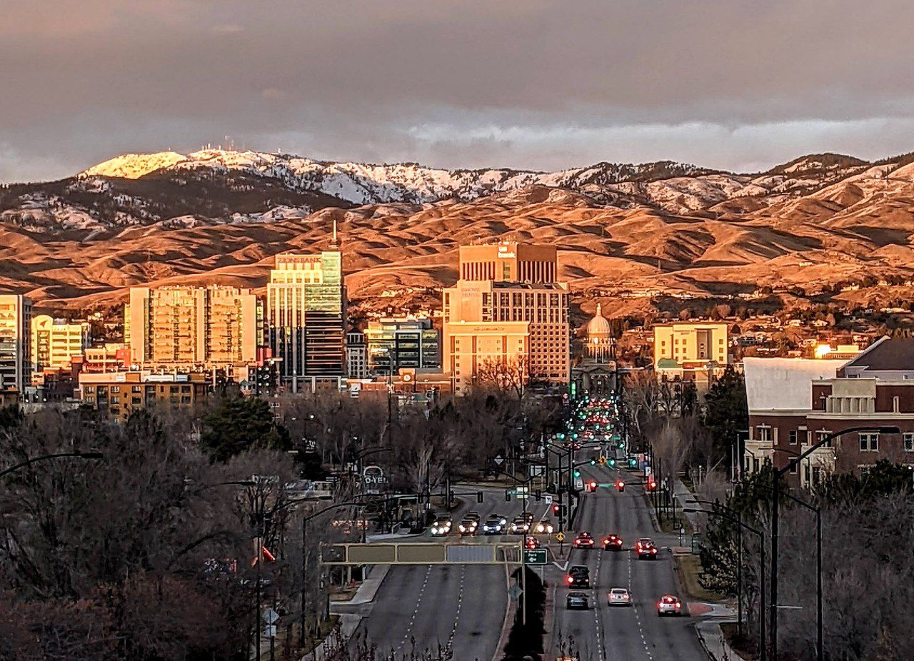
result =
[[814,486],[832,473],[865,473],[880,459],[914,466],[914,339],[883,337],[850,360],[745,357],[749,436],[746,472],[786,466],[832,432],[894,426],[898,434],[853,432],[835,438],[787,475]]

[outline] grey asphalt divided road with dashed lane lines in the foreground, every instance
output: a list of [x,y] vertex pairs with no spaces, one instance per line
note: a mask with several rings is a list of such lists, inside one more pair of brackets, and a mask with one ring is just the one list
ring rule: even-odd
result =
[[[613,483],[617,474],[605,468],[581,468],[584,479],[601,484]],[[668,540],[654,530],[644,500],[640,480],[629,479],[619,493],[614,487],[601,487],[583,494],[568,541],[580,530],[589,531],[598,541],[593,550],[565,546],[564,558],[545,569],[547,582],[555,586],[552,621],[547,622],[550,649],[547,659],[571,656],[580,661],[691,661],[707,658],[691,628],[691,618],[659,618],[656,602],[664,594],[678,593],[673,557],[664,545]],[[530,501],[535,517],[546,515],[546,503]],[[486,490],[484,503],[462,505],[454,513],[454,527],[463,513],[479,512],[483,520],[491,512],[514,517],[522,505],[505,502],[504,490]],[[617,533],[625,541],[620,552],[603,551],[600,540]],[[632,551],[634,539],[653,537],[660,551],[659,560],[637,560]],[[427,537],[423,537],[427,538]],[[450,538],[457,541],[457,538]],[[519,538],[490,537],[479,541],[508,541]],[[558,551],[554,543],[550,555]],[[590,568],[591,609],[566,608],[566,561]],[[628,588],[634,604],[630,608],[607,605],[607,592],[613,587]],[[450,649],[452,658],[490,661],[493,658],[505,609],[508,607],[505,568],[500,566],[400,566],[388,570],[375,601],[360,624],[380,655],[401,654],[425,649]]]

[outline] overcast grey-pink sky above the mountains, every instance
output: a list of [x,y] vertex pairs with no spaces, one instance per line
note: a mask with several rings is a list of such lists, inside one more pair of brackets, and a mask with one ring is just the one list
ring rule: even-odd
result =
[[225,136],[544,170],[914,151],[909,0],[0,0],[0,16],[0,181]]

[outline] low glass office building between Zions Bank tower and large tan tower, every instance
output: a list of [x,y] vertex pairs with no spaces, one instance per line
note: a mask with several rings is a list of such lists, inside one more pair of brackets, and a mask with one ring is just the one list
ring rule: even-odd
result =
[[401,368],[441,368],[441,337],[428,317],[384,317],[365,329],[368,369],[387,374]]

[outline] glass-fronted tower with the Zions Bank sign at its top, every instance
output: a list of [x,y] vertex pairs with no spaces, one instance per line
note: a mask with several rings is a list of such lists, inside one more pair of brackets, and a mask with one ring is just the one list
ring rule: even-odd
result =
[[303,380],[344,376],[342,262],[336,250],[276,255],[267,284],[267,324],[280,376],[293,390]]

